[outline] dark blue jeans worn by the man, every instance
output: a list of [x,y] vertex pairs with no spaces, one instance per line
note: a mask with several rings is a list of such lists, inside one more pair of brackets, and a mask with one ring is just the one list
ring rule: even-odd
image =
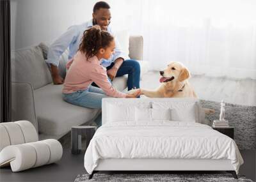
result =
[[[114,66],[114,64],[115,63],[112,63],[110,66],[108,66],[107,70],[111,69]],[[128,74],[128,90],[131,90],[132,88],[140,88],[140,64],[138,63],[138,61],[133,59],[125,60],[124,63],[122,63],[122,65],[118,69],[116,77],[122,77],[126,74]],[[93,83],[92,86],[97,85]]]

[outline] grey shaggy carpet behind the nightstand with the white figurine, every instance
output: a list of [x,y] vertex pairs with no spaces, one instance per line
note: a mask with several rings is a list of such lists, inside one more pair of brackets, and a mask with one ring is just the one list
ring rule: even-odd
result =
[[[220,118],[220,102],[201,100],[202,107],[214,109],[214,114],[205,114],[205,123]],[[225,119],[234,126],[234,139],[239,149],[256,149],[256,107],[225,103]]]

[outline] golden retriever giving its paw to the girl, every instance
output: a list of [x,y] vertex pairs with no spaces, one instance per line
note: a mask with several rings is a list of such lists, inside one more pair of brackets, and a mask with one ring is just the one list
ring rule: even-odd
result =
[[[179,62],[171,62],[167,68],[159,72],[161,86],[156,90],[140,89],[141,95],[150,98],[195,98],[193,87],[189,84],[190,73],[188,68]],[[129,91],[134,92],[135,90]],[[212,109],[205,109],[205,114],[214,113]]]

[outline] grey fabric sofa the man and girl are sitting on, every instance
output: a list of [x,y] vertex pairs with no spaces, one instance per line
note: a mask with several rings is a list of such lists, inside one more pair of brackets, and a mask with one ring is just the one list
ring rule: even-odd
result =
[[[52,84],[51,72],[45,63],[47,46],[38,46],[12,52],[12,120],[28,120],[33,123],[40,139],[60,139],[71,126],[93,121],[99,109],[88,109],[64,102],[61,98],[63,85]],[[60,59],[60,75],[65,77],[66,51]],[[142,60],[143,38],[130,36],[129,57]],[[141,75],[147,72],[147,61],[138,61]],[[127,77],[113,81],[116,89],[125,89]]]

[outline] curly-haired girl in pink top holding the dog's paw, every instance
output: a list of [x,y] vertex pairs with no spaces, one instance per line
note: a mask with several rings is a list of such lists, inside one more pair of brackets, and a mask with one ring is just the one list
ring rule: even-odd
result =
[[[117,91],[109,82],[101,59],[108,59],[115,49],[115,40],[100,27],[84,31],[76,55],[67,63],[67,76],[63,87],[63,100],[74,105],[101,108],[102,98],[136,98],[140,91],[128,95]],[[95,82],[99,87],[91,86]]]

